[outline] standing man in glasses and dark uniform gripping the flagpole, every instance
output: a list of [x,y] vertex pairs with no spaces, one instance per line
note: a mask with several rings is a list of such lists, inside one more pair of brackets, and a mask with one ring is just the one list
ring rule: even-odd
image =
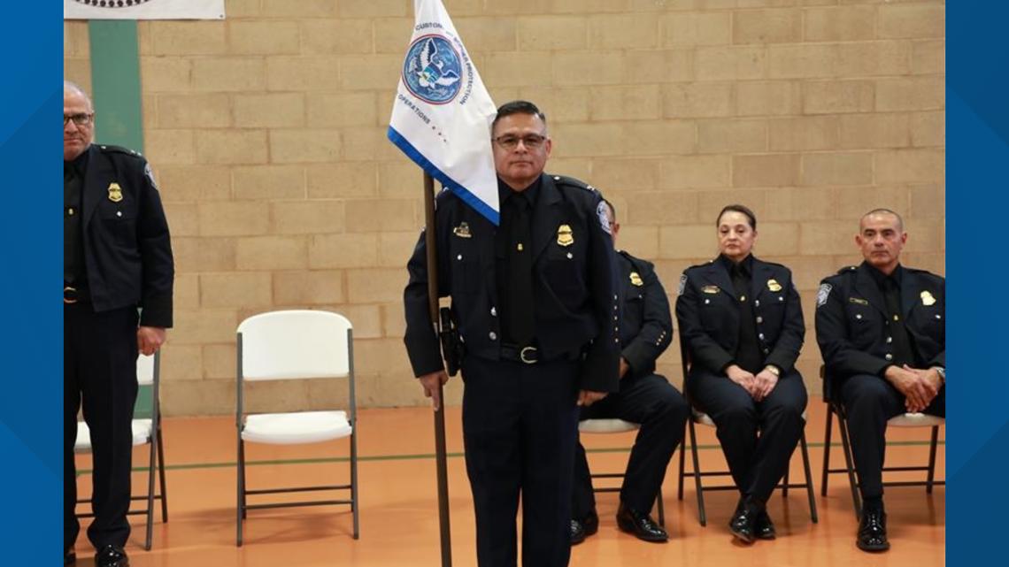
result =
[[[531,102],[491,126],[500,226],[450,192],[437,201],[438,295],[463,344],[462,430],[480,566],[568,564],[578,406],[619,388],[613,245],[606,206],[585,184],[543,174],[552,141]],[[439,407],[448,380],[428,310],[421,235],[408,264],[405,342]]]

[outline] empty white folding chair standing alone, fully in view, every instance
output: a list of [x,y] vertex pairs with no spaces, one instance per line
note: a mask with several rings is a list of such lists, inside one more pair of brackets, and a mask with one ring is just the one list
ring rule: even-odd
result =
[[[273,311],[249,317],[238,325],[238,389],[235,423],[238,430],[237,537],[249,509],[350,504],[353,538],[358,538],[357,415],[354,403],[353,327],[342,315],[327,311]],[[307,378],[348,378],[347,411],[292,412],[246,415],[246,381]],[[348,414],[349,413],[349,418]],[[293,445],[350,437],[350,483],[249,490],[245,487],[245,443]],[[349,490],[349,499],[249,504],[248,494]]]

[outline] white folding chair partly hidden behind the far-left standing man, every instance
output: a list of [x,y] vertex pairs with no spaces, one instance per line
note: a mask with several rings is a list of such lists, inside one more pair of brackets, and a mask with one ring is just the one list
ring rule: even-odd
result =
[[[149,464],[147,466],[147,493],[143,495],[130,496],[130,500],[146,500],[147,506],[143,509],[130,509],[130,516],[144,515],[147,517],[147,534],[144,540],[143,549],[150,550],[151,539],[154,529],[154,500],[161,501],[161,523],[169,521],[169,497],[164,484],[164,447],[161,443],[161,405],[159,399],[159,384],[161,374],[161,352],[157,351],[152,356],[140,355],[136,359],[136,381],[141,387],[150,387],[150,410],[140,412],[142,415],[149,413],[149,418],[134,419],[133,446],[150,445]],[[143,400],[143,398],[141,398]],[[141,403],[142,404],[142,403]],[[78,453],[91,452],[91,430],[85,422],[77,423],[77,442],[74,444],[74,451]],[[160,493],[154,493],[154,468],[157,468],[157,478]],[[82,498],[77,503],[86,503],[90,500]],[[93,518],[94,514],[79,514],[78,518]]]

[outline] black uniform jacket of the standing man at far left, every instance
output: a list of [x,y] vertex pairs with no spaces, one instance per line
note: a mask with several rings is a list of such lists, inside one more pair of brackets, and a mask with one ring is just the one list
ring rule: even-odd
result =
[[140,325],[172,327],[172,242],[147,160],[114,145],[85,151],[84,258],[95,311],[136,306]]

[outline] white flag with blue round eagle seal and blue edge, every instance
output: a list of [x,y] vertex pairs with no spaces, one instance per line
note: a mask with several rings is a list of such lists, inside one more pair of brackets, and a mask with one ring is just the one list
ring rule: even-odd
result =
[[490,222],[498,222],[490,148],[496,107],[441,0],[414,0],[388,139]]

